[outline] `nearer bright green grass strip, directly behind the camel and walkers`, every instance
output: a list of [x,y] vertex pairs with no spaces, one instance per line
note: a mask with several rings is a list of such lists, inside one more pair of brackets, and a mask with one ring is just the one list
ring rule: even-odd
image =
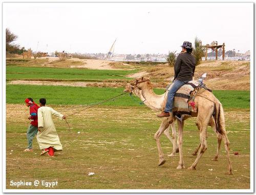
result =
[[[22,85],[7,84],[6,102],[23,103],[24,99],[32,97],[38,102],[45,97],[49,104],[90,104],[109,99],[123,93],[123,88],[96,88],[96,87],[73,87],[73,86],[46,86],[46,85]],[[157,94],[162,94],[162,89],[155,89]],[[214,91],[214,95],[223,104],[224,109],[249,109],[249,91]],[[17,95],[18,94],[18,95]],[[115,101],[104,103],[104,105],[136,106],[139,98],[125,94]]]

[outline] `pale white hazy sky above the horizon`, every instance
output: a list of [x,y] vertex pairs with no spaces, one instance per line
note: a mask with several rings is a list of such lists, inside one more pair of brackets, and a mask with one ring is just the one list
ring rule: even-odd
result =
[[[4,3],[3,26],[33,51],[180,51],[184,40],[250,50],[253,3]],[[38,48],[37,48],[37,43]]]

